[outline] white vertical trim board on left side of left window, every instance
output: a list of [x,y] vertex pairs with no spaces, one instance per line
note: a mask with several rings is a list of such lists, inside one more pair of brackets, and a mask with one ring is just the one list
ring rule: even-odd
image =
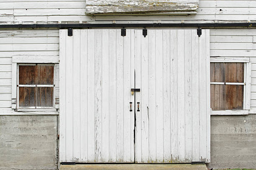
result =
[[12,109],[17,108],[17,63],[12,63]]

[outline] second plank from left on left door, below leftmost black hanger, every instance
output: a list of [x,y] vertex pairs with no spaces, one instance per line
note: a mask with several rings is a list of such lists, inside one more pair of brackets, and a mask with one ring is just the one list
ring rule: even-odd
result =
[[[73,37],[66,37],[66,135],[67,162],[73,162]],[[43,70],[41,69],[41,72]],[[43,71],[44,72],[44,71]],[[44,73],[42,73],[44,74]],[[44,80],[43,80],[44,82]],[[41,90],[42,91],[42,90]]]

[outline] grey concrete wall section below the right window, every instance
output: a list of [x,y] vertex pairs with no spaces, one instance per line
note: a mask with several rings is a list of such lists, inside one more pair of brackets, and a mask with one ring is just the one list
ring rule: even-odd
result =
[[256,115],[211,116],[207,168],[256,168]]

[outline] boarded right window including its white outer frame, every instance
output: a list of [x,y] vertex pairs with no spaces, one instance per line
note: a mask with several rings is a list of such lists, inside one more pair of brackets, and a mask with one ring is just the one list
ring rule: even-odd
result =
[[211,57],[210,95],[215,110],[249,110],[251,69],[246,57]]

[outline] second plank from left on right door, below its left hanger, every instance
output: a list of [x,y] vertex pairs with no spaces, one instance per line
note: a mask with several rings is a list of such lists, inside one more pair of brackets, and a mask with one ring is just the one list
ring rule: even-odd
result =
[[[148,163],[148,36],[141,38],[141,162]],[[139,113],[138,113],[139,114]]]

